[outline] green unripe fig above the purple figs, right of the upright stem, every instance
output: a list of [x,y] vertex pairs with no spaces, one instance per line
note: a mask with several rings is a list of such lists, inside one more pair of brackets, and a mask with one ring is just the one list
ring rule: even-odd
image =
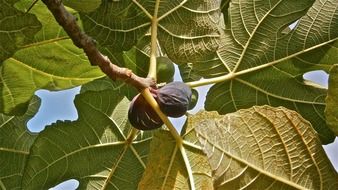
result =
[[174,63],[168,57],[157,57],[157,83],[172,82],[174,80]]

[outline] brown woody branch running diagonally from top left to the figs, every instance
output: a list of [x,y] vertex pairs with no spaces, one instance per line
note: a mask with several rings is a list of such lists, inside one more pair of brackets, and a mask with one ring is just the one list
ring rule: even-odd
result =
[[74,45],[83,49],[92,65],[98,65],[111,79],[121,79],[136,87],[139,91],[155,85],[152,78],[143,78],[135,75],[127,68],[121,68],[113,64],[109,58],[103,55],[97,48],[95,40],[81,31],[76,23],[76,18],[70,14],[62,4],[62,0],[42,0],[54,15],[56,21],[67,32]]

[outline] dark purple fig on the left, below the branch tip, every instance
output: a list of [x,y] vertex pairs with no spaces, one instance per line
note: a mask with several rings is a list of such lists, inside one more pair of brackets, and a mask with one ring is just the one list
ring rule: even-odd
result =
[[139,130],[152,130],[163,125],[163,121],[141,94],[136,95],[128,111],[130,124]]

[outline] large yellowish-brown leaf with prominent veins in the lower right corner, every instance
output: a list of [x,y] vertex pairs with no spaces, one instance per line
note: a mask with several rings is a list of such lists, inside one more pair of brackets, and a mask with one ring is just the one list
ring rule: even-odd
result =
[[215,189],[336,189],[317,133],[297,112],[255,106],[188,119],[209,158]]

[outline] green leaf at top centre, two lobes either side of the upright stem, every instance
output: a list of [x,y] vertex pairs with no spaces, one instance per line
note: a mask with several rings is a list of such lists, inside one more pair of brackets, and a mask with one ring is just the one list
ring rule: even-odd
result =
[[[85,31],[112,52],[129,50],[150,30],[155,1],[103,1],[81,14]],[[181,63],[204,60],[218,48],[220,2],[160,1],[158,39],[169,58]]]

